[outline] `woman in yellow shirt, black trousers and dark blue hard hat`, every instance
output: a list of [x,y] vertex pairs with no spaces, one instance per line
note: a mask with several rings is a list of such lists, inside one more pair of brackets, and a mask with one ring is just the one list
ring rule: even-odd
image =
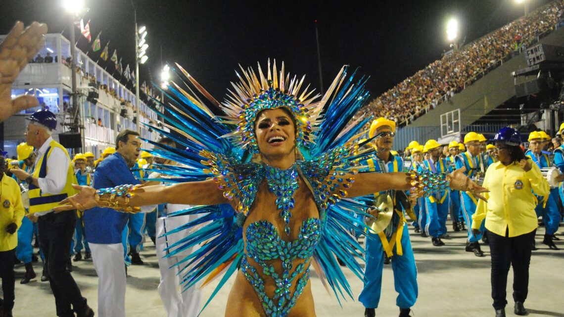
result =
[[504,127],[493,139],[499,161],[486,171],[483,186],[487,202],[480,200],[472,216],[472,231],[479,228],[486,218],[486,230],[490,240],[491,284],[493,308],[496,317],[505,317],[506,286],[509,267],[513,265],[513,300],[516,315],[526,315],[523,306],[528,292],[528,268],[531,262],[531,246],[535,239],[537,216],[536,198],[548,195],[549,184],[536,164],[525,157],[519,147],[521,134]]

